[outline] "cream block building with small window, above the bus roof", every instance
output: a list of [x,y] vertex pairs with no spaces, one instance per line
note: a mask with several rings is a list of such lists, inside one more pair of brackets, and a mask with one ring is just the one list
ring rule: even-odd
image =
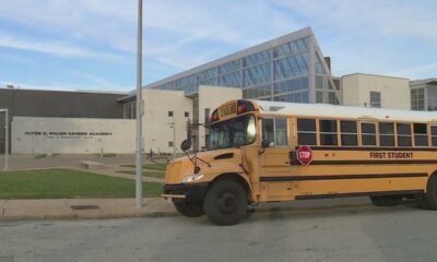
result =
[[411,109],[408,79],[371,74],[342,78],[343,105],[369,107],[371,91],[380,92],[382,108]]

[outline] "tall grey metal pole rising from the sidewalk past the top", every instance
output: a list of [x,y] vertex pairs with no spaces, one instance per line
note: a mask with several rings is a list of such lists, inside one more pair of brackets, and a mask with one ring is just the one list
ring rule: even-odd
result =
[[138,0],[137,39],[137,162],[135,162],[135,206],[143,206],[143,165],[142,165],[142,49],[143,49],[143,1]]

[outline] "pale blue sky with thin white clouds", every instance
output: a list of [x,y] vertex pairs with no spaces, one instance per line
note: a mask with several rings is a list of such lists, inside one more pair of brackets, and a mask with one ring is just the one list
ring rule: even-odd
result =
[[[0,0],[0,86],[131,91],[137,0]],[[144,0],[144,84],[311,26],[334,75],[437,78],[437,1]]]

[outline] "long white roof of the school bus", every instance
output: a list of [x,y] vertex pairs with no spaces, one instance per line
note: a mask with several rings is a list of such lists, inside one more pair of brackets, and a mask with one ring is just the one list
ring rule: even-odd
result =
[[251,102],[260,107],[261,114],[265,115],[362,118],[408,122],[437,122],[437,112],[433,111],[334,106],[327,104],[299,104],[265,100]]

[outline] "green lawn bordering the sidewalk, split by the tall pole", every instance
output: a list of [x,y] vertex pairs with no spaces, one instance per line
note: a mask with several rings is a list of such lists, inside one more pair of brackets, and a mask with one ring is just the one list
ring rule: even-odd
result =
[[[134,181],[70,169],[0,171],[0,199],[133,198]],[[144,182],[145,195],[162,184]]]

